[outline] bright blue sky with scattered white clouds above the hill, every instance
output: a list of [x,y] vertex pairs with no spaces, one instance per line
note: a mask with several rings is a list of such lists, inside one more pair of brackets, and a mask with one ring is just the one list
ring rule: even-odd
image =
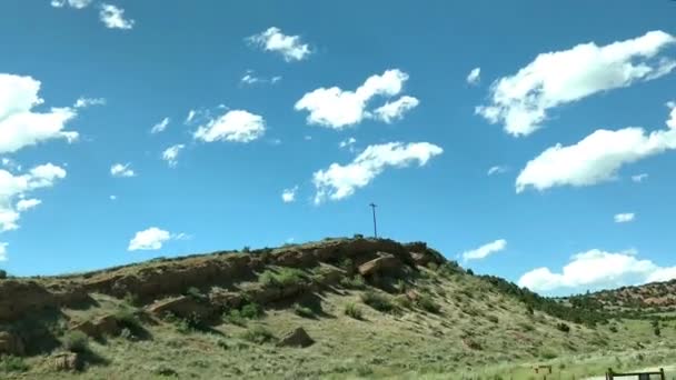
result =
[[2,1],[0,267],[369,234],[372,201],[381,234],[545,293],[675,278],[674,14]]

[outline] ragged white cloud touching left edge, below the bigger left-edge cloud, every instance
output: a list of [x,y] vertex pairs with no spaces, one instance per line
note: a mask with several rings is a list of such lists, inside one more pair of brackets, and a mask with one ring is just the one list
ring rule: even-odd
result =
[[40,203],[37,199],[26,200],[27,194],[51,188],[63,178],[66,170],[52,163],[34,167],[20,176],[0,169],[0,232],[18,229],[21,212]]

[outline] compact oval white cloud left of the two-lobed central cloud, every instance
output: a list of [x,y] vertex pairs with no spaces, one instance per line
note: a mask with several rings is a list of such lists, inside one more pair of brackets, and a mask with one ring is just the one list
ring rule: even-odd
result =
[[243,110],[230,110],[200,126],[193,138],[206,142],[250,142],[262,137],[265,131],[266,122],[261,116]]

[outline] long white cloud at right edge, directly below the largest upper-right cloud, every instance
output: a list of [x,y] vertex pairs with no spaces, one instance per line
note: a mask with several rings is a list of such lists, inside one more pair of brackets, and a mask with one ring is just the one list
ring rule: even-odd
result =
[[[670,127],[676,120],[672,109]],[[676,149],[676,128],[646,132],[643,128],[596,130],[569,147],[560,143],[530,160],[516,180],[517,192],[528,187],[592,186],[612,180],[627,163]]]

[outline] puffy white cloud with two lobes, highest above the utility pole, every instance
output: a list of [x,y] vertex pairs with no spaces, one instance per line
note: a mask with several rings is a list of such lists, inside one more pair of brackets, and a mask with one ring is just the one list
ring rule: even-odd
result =
[[[398,69],[387,70],[381,76],[369,77],[355,91],[341,90],[338,87],[316,89],[298,100],[295,109],[308,111],[307,122],[310,124],[344,129],[361,122],[365,118],[372,118],[374,114],[366,109],[368,102],[377,96],[398,94],[407,80],[406,72]],[[406,99],[402,100],[404,98]],[[397,102],[379,108],[379,113],[375,117],[394,120],[417,103],[415,98],[402,97]]]

